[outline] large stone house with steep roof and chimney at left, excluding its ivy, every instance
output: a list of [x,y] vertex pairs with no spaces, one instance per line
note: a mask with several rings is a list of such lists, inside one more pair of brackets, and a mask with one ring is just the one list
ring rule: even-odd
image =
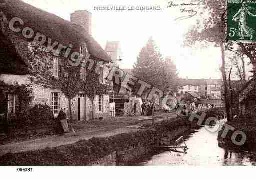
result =
[[[16,33],[4,26],[4,21],[10,21],[13,17],[23,20],[24,25],[15,27],[29,27],[35,32],[44,34],[65,46],[71,44],[72,50],[84,54],[88,51],[91,59],[102,61],[104,64],[111,62],[108,54],[91,36],[91,13],[86,10],[75,11],[71,14],[71,22],[54,14],[35,8],[20,0],[1,0],[0,3],[0,80],[6,84],[30,83],[26,65],[27,54],[31,39],[25,38],[22,33]],[[22,32],[22,31],[21,31]],[[42,46],[45,46],[43,44]],[[58,76],[58,56],[52,56],[53,74]],[[101,70],[100,82],[104,83],[105,71]],[[60,89],[42,88],[33,85],[34,99],[32,104],[47,104],[54,115],[58,115],[60,109],[67,111],[68,102]],[[15,113],[15,91],[8,94],[8,113]],[[92,102],[82,91],[71,101],[72,116],[76,120],[90,119],[92,117]],[[94,102],[94,116],[109,115],[109,95],[97,95]]]

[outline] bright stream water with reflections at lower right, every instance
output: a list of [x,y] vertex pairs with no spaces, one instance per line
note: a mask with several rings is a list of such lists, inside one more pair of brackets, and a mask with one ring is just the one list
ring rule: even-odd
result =
[[145,156],[132,165],[256,165],[256,151],[232,150],[227,146],[220,145],[217,135],[217,132],[209,132],[204,127],[192,130],[184,135],[189,148],[187,154],[158,151]]

